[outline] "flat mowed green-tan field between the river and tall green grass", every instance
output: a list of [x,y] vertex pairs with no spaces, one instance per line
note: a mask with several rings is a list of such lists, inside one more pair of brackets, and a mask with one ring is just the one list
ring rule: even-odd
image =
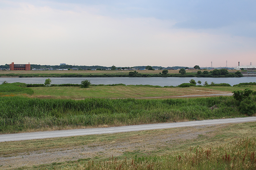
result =
[[155,88],[151,86],[90,86],[79,87],[31,87],[36,98],[83,99],[83,98],[150,98],[173,97],[184,95],[209,95],[218,93],[232,93],[232,91],[250,87],[187,87],[187,88]]

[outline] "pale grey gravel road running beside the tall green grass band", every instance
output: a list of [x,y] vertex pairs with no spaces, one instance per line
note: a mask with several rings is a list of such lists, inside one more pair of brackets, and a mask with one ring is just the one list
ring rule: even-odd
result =
[[146,125],[134,125],[134,126],[120,126],[110,128],[88,128],[88,129],[73,129],[73,130],[55,130],[45,132],[33,132],[33,133],[16,133],[0,135],[0,142],[6,141],[18,141],[18,140],[32,140],[32,139],[45,139],[52,137],[68,137],[68,136],[80,136],[80,135],[93,135],[104,133],[120,133],[131,132],[140,130],[153,130],[153,129],[166,129],[166,128],[179,128],[188,126],[202,126],[202,125],[214,125],[225,123],[243,123],[256,121],[256,116],[243,117],[243,118],[231,118],[231,119],[213,119],[203,121],[186,121],[177,123],[158,123],[158,124],[146,124]]

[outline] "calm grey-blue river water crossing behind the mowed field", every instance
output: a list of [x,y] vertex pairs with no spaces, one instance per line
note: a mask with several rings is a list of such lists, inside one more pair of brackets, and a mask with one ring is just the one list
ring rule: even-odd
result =
[[[45,79],[42,77],[36,78],[17,78],[17,77],[0,77],[0,84],[7,81],[8,83],[21,82],[26,84],[44,84]],[[234,84],[245,83],[245,82],[256,82],[256,77],[239,77],[239,78],[204,78],[204,77],[81,77],[81,78],[69,78],[69,77],[52,77],[52,84],[81,84],[82,80],[90,80],[92,84],[126,84],[126,85],[158,85],[158,86],[177,86],[182,83],[189,83],[191,79],[196,82],[201,81],[214,83],[228,83],[231,86]]]

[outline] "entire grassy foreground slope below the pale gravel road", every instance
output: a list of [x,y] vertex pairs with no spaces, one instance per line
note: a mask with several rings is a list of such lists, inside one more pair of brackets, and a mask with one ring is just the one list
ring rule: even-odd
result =
[[[16,163],[2,164],[2,168],[19,167],[19,170],[254,170],[255,136],[256,122],[198,126],[2,142],[0,156],[7,159],[15,156]],[[62,158],[61,153],[70,150],[76,153],[73,158]],[[51,160],[41,154],[57,155]],[[26,161],[26,157],[33,159]],[[42,165],[44,160],[50,164]],[[24,164],[26,167],[21,167]]]

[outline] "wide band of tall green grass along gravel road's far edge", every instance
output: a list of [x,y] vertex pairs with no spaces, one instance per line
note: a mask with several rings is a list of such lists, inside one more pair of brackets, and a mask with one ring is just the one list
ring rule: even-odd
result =
[[[215,105],[215,109],[209,109]],[[243,116],[232,97],[136,100],[0,97],[0,133],[66,126],[120,126]]]

